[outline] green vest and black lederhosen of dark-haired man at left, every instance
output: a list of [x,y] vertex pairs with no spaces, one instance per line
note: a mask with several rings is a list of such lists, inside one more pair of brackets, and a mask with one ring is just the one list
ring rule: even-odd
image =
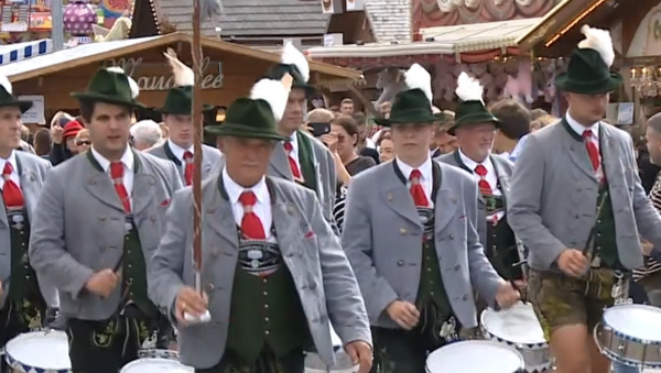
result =
[[[104,172],[90,152],[95,168]],[[140,161],[136,157],[134,169]],[[121,267],[121,300],[106,320],[69,318],[69,358],[74,373],[117,373],[139,358],[144,348],[166,349],[172,326],[147,295],[147,264],[132,215],[126,216],[124,244],[116,271]],[[164,336],[159,338],[159,336]]]

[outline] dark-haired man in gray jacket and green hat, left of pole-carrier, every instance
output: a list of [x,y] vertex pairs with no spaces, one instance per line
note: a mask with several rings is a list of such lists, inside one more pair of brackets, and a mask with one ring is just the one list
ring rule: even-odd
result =
[[[129,146],[138,84],[99,69],[74,92],[91,147],[48,173],[34,211],[30,263],[59,290],[74,372],[117,373],[171,326],[147,295],[147,263],[181,188],[175,166]],[[164,177],[167,176],[167,177]]]

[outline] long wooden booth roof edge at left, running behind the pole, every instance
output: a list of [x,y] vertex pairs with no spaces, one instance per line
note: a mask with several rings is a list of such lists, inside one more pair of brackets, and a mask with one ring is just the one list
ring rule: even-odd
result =
[[[189,64],[191,42],[192,39],[188,34],[172,33],[124,41],[84,44],[0,66],[0,75],[7,76],[10,81],[21,81],[58,74],[90,64],[100,64],[111,58],[140,57],[142,53],[148,51],[156,51],[153,55],[155,58],[159,58],[158,56],[169,46],[178,51],[182,61]],[[246,69],[254,69],[257,74],[263,74],[270,66],[280,62],[278,53],[227,43],[217,39],[203,37],[202,45],[205,50],[205,55],[213,54],[214,57],[220,57],[227,64],[232,63],[236,58],[246,59],[246,62],[249,62]],[[161,56],[161,58],[163,57]],[[338,84],[353,85],[361,80],[360,72],[314,61],[308,62],[311,84],[313,85],[322,87],[337,86]],[[259,75],[256,78],[259,78]]]

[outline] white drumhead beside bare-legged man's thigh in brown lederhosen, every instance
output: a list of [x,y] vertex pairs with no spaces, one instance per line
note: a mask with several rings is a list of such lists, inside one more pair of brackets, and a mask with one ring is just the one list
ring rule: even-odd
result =
[[495,337],[517,344],[544,343],[544,330],[532,305],[518,303],[509,309],[487,308],[481,314],[483,327]]

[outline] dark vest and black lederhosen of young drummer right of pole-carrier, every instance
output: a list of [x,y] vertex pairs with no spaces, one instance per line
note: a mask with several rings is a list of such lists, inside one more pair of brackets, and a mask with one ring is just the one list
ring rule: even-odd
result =
[[[407,187],[407,178],[392,162],[397,177]],[[441,166],[432,162],[432,200],[441,188]],[[372,327],[375,362],[372,373],[425,372],[426,354],[458,339],[460,325],[445,292],[434,240],[434,208],[418,208],[423,224],[422,271],[415,306],[420,322],[410,331]],[[402,248],[411,250],[411,248]]]

